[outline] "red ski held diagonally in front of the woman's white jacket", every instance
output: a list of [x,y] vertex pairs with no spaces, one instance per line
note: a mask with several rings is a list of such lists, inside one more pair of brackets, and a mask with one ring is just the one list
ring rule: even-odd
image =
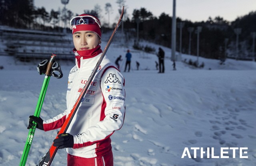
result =
[[[68,130],[68,127],[69,127],[69,125],[70,125],[74,115],[76,114],[76,111],[77,111],[80,103],[82,102],[82,99],[83,99],[84,95],[86,94],[86,91],[89,88],[89,86],[90,86],[90,84],[92,82],[92,79],[94,78],[94,76],[95,76],[95,74],[97,72],[97,69],[100,66],[100,63],[102,62],[106,52],[108,51],[108,48],[109,48],[112,40],[114,39],[114,36],[115,36],[115,34],[116,34],[117,30],[118,30],[118,27],[120,26],[120,23],[122,21],[123,15],[124,15],[124,6],[122,8],[122,13],[121,13],[121,16],[120,16],[120,18],[118,20],[118,23],[117,23],[117,25],[116,25],[116,27],[115,27],[115,29],[114,29],[110,39],[108,40],[108,43],[107,43],[104,51],[102,52],[102,55],[100,56],[100,59],[98,60],[96,66],[94,67],[94,69],[93,69],[93,71],[92,71],[88,81],[84,85],[84,88],[82,89],[78,99],[76,100],[76,103],[74,104],[73,108],[71,109],[70,114],[68,115],[66,121],[64,122],[64,124],[60,128],[60,131],[58,132],[58,134],[66,133],[66,131]],[[58,138],[58,134],[57,134],[56,138]],[[54,156],[55,156],[57,150],[58,150],[58,147],[53,146],[53,143],[52,143],[52,146],[50,147],[48,152],[42,157],[42,159],[38,162],[38,165],[36,165],[36,166],[50,166],[51,163],[52,163],[52,160],[54,159]]]

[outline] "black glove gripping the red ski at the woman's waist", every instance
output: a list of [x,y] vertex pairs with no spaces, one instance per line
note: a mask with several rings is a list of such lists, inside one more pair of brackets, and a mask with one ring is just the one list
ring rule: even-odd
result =
[[53,146],[58,146],[58,149],[73,148],[74,138],[71,134],[62,133],[58,135],[59,138],[53,140]]

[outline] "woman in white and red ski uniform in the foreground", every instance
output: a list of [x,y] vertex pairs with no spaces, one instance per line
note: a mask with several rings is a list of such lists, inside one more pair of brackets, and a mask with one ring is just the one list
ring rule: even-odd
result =
[[[67,109],[52,119],[30,116],[28,129],[61,128],[84,85],[98,63],[102,50],[100,20],[81,14],[70,20],[76,65],[70,70],[66,93]],[[66,148],[68,166],[113,166],[110,136],[124,123],[124,77],[104,56],[65,134],[54,139],[53,146]]]

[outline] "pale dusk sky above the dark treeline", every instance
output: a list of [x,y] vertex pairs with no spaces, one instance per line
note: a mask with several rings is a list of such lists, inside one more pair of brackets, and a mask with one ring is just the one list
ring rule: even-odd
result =
[[[110,22],[114,22],[119,17],[116,0],[69,0],[66,8],[74,14],[82,14],[84,10],[92,10],[96,4],[99,4],[102,9],[100,15],[107,19],[104,9],[106,3],[112,5],[113,12],[110,15]],[[163,12],[172,16],[172,3],[173,0],[126,0],[125,9],[129,18],[132,18],[134,9],[139,10],[140,8],[146,8],[156,17]],[[34,0],[34,4],[36,7],[44,6],[48,12],[51,9],[58,10],[58,8],[64,7],[61,0]],[[176,16],[192,22],[206,21],[209,17],[215,18],[216,16],[234,21],[237,17],[256,11],[255,7],[256,0],[176,0]]]

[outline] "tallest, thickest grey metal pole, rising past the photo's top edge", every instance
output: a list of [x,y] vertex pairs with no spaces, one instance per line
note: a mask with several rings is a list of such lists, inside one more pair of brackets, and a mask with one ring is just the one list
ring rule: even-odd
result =
[[171,60],[175,61],[176,56],[176,0],[173,0],[172,8],[172,57]]

